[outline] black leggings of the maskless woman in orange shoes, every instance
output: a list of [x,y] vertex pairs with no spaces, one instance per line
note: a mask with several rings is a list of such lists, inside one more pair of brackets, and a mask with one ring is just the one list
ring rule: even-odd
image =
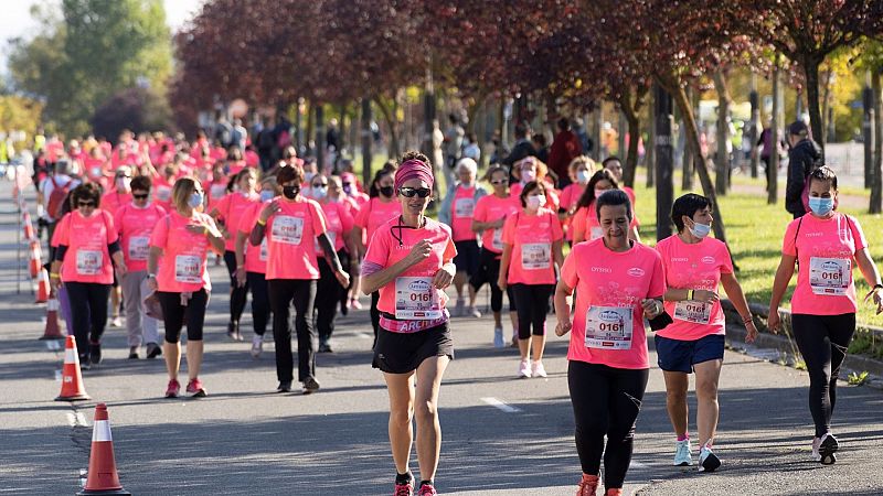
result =
[[635,421],[649,376],[650,370],[646,368],[613,368],[577,360],[571,360],[567,366],[579,464],[584,474],[598,475],[604,454],[604,486],[608,489],[621,488],[626,479]]

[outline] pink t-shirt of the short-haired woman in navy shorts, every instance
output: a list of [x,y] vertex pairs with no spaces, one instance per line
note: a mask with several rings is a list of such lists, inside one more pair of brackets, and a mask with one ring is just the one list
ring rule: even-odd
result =
[[[678,236],[670,236],[656,245],[666,267],[669,288],[717,292],[722,273],[733,273],[733,262],[726,245],[705,238],[690,245]],[[724,312],[721,302],[667,301],[666,311],[674,320],[662,331],[662,337],[695,341],[711,334],[725,334]]]

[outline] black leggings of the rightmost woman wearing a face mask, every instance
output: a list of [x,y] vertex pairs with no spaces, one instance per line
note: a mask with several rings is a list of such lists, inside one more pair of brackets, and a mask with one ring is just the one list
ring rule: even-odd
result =
[[809,412],[816,423],[816,438],[831,429],[837,400],[837,378],[855,332],[855,314],[791,315],[794,336],[809,371]]

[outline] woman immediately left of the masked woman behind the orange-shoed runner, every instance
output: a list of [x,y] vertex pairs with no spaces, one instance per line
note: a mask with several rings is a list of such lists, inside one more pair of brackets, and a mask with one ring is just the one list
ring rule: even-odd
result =
[[[472,230],[481,234],[481,255],[478,270],[469,279],[471,287],[469,306],[476,305],[476,294],[487,282],[490,284],[490,309],[493,312],[493,346],[502,348],[503,341],[503,290],[497,285],[500,277],[500,258],[503,252],[503,223],[507,217],[518,213],[519,204],[509,196],[509,172],[497,166],[488,171],[488,179],[493,186],[493,194],[482,196],[476,203],[472,216]],[[512,330],[518,328],[515,301],[511,288],[507,291],[509,299],[509,317]],[[515,331],[517,333],[517,331]]]

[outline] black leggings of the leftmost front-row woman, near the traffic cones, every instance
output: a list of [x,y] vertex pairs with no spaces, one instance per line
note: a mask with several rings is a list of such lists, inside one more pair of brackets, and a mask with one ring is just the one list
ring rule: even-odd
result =
[[89,352],[89,342],[99,343],[107,325],[107,296],[110,284],[97,282],[65,282],[71,301],[71,323],[81,355]]

